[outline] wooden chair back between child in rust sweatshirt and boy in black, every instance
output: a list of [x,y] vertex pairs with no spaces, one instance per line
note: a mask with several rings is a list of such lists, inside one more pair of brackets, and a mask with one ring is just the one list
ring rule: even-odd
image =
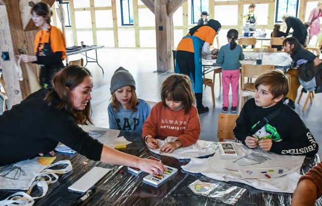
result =
[[217,137],[219,142],[233,140],[232,130],[236,125],[236,120],[239,115],[220,113],[218,116]]

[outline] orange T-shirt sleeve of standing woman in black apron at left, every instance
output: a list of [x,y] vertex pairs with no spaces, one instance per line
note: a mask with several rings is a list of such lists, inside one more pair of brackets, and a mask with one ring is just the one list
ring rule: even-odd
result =
[[57,28],[52,26],[51,33],[50,33],[50,46],[53,53],[57,51],[62,52],[61,60],[66,58],[66,42],[65,37],[61,33],[61,31]]

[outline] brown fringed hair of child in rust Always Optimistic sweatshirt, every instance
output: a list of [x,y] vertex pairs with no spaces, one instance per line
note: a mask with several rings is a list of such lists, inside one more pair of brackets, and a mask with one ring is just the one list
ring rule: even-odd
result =
[[172,74],[168,76],[161,85],[161,99],[164,107],[168,107],[166,99],[182,101],[185,114],[187,114],[194,101],[189,76],[185,74]]

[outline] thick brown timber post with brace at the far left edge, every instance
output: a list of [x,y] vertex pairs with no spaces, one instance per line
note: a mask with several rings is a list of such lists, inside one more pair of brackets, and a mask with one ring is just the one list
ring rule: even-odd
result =
[[[35,1],[36,3],[39,1]],[[55,0],[43,1],[50,6]],[[10,61],[4,61],[0,58],[3,68],[3,75],[7,87],[8,108],[19,104],[31,92],[39,89],[38,73],[39,65],[21,63],[23,71],[23,81],[18,80],[18,71],[16,70],[16,55],[19,55],[18,49],[22,49],[28,55],[34,55],[34,39],[37,30],[27,31],[30,22],[30,10],[28,1],[24,0],[2,0],[0,4],[0,51],[9,53]],[[18,14],[18,15],[17,15]],[[19,15],[20,14],[20,15]],[[23,18],[29,17],[27,20]],[[36,29],[38,29],[36,27]]]

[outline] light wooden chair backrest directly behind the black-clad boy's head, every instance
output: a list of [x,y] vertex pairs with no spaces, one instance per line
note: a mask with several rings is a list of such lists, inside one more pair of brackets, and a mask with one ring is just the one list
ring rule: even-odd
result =
[[240,74],[241,90],[245,90],[245,77],[257,78],[265,71],[274,70],[274,65],[242,64]]

